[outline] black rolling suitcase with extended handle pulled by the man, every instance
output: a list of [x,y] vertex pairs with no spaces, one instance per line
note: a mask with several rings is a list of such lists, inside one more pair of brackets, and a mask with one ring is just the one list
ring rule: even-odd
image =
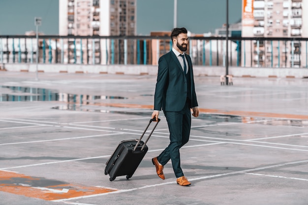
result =
[[155,121],[155,118],[150,120],[148,126],[139,139],[122,141],[114,153],[110,156],[106,162],[105,168],[105,175],[109,174],[110,181],[115,180],[117,176],[126,175],[126,179],[129,179],[131,176],[133,176],[141,160],[148,151],[148,146],[146,143],[150,139],[160,119],[157,120],[146,142],[141,141],[142,137],[153,121]]

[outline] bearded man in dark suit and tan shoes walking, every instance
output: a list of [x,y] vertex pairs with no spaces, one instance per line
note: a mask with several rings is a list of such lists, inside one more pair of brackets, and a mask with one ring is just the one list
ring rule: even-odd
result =
[[152,159],[157,175],[165,179],[164,165],[171,159],[172,167],[181,186],[191,183],[184,176],[180,162],[180,148],[189,139],[191,112],[199,116],[195,92],[192,63],[185,54],[188,37],[185,28],[175,28],[171,32],[172,51],[158,60],[158,74],[154,95],[154,112],[152,118],[158,119],[159,111],[163,110],[168,122],[170,144],[159,156]]

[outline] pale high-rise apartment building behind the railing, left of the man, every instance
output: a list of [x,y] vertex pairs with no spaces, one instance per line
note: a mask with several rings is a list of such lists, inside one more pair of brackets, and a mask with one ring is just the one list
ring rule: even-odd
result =
[[[62,42],[68,52],[68,55],[64,55],[68,56],[64,62],[134,63],[136,59],[132,52],[135,51],[135,40],[94,37],[135,35],[136,14],[136,0],[59,0],[59,35],[72,36]],[[93,38],[87,40],[74,36]],[[125,57],[124,49],[129,51]],[[84,59],[90,59],[90,62]]]

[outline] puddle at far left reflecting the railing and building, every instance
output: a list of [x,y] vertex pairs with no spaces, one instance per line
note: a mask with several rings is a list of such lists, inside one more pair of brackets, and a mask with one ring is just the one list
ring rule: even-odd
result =
[[93,100],[126,99],[122,96],[83,95],[61,93],[55,89],[19,86],[0,86],[0,102],[7,101],[60,101],[85,103]]

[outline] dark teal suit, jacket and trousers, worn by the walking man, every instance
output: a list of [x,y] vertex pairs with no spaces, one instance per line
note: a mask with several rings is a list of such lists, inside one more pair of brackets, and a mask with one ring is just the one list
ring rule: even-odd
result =
[[176,177],[184,176],[180,163],[180,148],[189,139],[190,108],[198,106],[191,59],[186,54],[185,57],[188,62],[187,74],[173,51],[160,57],[154,95],[154,110],[164,111],[170,132],[170,144],[157,160],[164,166],[171,159]]

